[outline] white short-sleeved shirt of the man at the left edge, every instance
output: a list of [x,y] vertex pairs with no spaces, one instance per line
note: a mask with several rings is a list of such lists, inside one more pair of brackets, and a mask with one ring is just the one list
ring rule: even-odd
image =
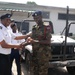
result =
[[[2,29],[0,29],[0,42],[5,40],[6,43],[11,44],[11,37],[16,37],[15,35],[11,36],[10,30],[0,23]],[[8,55],[11,53],[11,48],[2,48],[0,45],[0,54]]]

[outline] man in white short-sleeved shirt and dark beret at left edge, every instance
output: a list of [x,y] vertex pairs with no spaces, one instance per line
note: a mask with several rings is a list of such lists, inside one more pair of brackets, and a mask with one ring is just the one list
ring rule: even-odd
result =
[[8,26],[10,25],[10,18],[11,14],[4,14],[0,17],[1,23],[0,23],[0,75],[11,75],[10,74],[10,61],[9,61],[9,55],[11,53],[11,48],[22,48],[23,45],[12,45],[11,44],[11,37],[13,37],[16,40],[27,38],[28,35],[24,36],[14,36],[11,35],[10,30]]

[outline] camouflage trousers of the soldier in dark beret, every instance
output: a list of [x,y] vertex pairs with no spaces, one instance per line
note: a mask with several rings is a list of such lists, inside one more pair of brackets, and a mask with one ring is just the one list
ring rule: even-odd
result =
[[50,52],[48,52],[49,55],[47,55],[46,53],[42,51],[38,52],[38,54],[35,53],[35,55],[33,55],[30,64],[30,75],[48,75],[49,59],[51,57],[51,54]]

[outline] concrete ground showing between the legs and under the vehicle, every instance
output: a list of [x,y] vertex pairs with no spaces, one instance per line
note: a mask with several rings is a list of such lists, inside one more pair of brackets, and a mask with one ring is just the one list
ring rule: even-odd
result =
[[[17,69],[15,65],[15,60],[13,61],[13,67],[12,67],[13,75],[17,75]],[[21,64],[21,71],[22,75],[30,75],[26,70],[26,65],[24,63]],[[48,75],[69,75],[67,73],[66,67],[58,68],[58,69],[49,69]]]

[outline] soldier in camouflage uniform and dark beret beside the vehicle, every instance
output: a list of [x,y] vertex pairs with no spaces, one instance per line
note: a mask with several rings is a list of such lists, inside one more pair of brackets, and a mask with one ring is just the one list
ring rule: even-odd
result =
[[28,39],[33,47],[30,75],[48,75],[51,59],[50,26],[42,21],[41,11],[36,11],[32,16],[37,25],[33,26],[32,37]]

